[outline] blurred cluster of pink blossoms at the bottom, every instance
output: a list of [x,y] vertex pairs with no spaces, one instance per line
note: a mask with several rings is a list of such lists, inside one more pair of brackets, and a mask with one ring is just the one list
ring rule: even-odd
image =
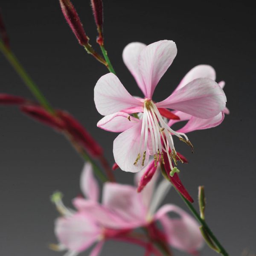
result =
[[[136,175],[136,183],[139,179]],[[54,200],[64,215],[55,223],[55,234],[60,242],[58,249],[68,250],[65,256],[73,256],[97,243],[90,254],[96,256],[106,239],[125,238],[132,229],[146,227],[153,229],[154,239],[159,236],[177,249],[196,252],[203,244],[198,224],[175,205],[166,204],[157,210],[171,185],[163,180],[155,189],[156,181],[155,175],[141,193],[137,193],[134,186],[105,183],[100,204],[99,186],[92,166],[87,163],[80,184],[86,199],[78,197],[73,201],[78,212],[67,209],[59,198]],[[170,218],[168,212],[174,212],[179,218]],[[160,221],[163,231],[156,227],[156,221]]]

